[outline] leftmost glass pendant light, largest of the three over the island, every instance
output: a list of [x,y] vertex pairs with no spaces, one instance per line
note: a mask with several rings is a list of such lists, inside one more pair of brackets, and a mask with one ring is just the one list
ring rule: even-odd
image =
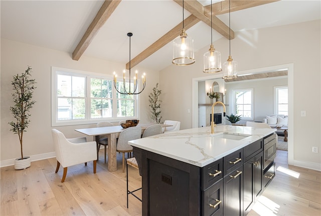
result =
[[183,29],[180,36],[173,41],[173,61],[174,65],[191,65],[195,63],[194,41],[188,37],[184,29],[184,0],[183,0]]

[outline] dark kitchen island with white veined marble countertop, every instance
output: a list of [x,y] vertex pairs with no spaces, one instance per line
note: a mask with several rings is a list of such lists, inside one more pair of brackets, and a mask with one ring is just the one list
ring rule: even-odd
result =
[[142,176],[142,215],[246,214],[274,177],[274,161],[263,170],[264,139],[274,140],[274,132],[219,125],[214,134],[201,127],[130,141]]

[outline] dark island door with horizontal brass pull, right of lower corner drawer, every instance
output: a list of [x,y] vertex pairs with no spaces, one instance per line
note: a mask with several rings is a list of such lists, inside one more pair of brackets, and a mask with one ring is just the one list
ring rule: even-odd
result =
[[223,215],[243,216],[243,164],[223,178]]

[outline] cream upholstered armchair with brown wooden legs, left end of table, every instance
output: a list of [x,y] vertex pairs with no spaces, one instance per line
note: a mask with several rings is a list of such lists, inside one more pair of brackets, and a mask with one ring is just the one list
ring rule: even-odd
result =
[[67,139],[65,135],[57,129],[52,129],[52,137],[56,151],[57,167],[56,173],[60,165],[64,168],[61,182],[64,182],[67,175],[67,168],[80,163],[93,161],[94,173],[96,173],[96,142],[87,142],[86,137]]

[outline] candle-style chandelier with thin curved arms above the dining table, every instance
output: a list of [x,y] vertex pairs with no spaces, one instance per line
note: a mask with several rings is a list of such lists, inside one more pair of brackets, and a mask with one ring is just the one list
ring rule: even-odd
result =
[[144,89],[145,89],[145,86],[146,86],[146,77],[145,77],[145,73],[141,76],[141,79],[142,79],[142,89],[140,92],[136,92],[137,90],[137,86],[138,86],[138,80],[137,80],[137,74],[138,74],[138,71],[136,70],[135,71],[135,75],[133,77],[133,80],[134,80],[134,83],[133,83],[133,91],[131,91],[131,78],[130,78],[130,37],[132,36],[132,33],[127,33],[127,36],[129,37],[129,87],[128,87],[128,91],[127,91],[127,88],[126,88],[126,82],[125,82],[125,73],[126,73],[126,70],[123,71],[123,91],[121,91],[121,89],[117,89],[117,86],[116,86],[116,82],[117,82],[117,75],[116,73],[114,72],[114,87],[116,89],[116,91],[120,94],[123,94],[123,95],[137,95],[137,94],[140,94]]

